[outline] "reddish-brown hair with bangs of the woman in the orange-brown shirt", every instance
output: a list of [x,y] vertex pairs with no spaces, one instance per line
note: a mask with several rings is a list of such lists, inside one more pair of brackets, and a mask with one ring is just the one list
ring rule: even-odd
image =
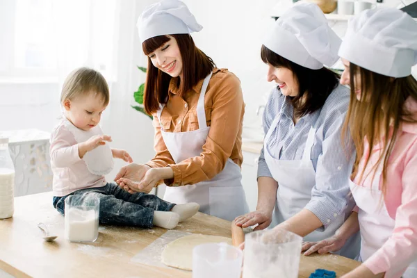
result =
[[[181,97],[193,88],[198,81],[204,79],[214,69],[215,63],[195,46],[193,38],[189,34],[170,36],[177,40],[183,62],[183,78],[179,84],[179,94],[177,94]],[[142,43],[143,52],[145,52],[145,55],[149,55],[169,40],[170,38],[167,35],[149,38]],[[148,57],[143,104],[146,113],[149,115],[158,110],[159,104],[166,104],[171,78],[169,74],[154,67]]]

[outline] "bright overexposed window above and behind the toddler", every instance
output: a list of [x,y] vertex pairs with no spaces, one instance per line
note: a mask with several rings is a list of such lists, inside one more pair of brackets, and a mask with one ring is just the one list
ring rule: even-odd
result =
[[112,79],[118,8],[117,0],[1,1],[0,79],[54,79],[82,65]]

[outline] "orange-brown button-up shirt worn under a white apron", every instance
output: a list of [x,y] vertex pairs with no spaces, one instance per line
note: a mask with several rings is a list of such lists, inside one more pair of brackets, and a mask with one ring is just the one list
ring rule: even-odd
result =
[[[178,97],[178,78],[170,81],[168,101],[161,114],[161,123],[166,132],[184,132],[199,129],[197,120],[197,101],[204,80],[200,80],[183,97]],[[206,143],[200,156],[190,157],[175,163],[161,134],[161,125],[156,113],[154,116],[156,156],[147,163],[150,167],[170,166],[174,179],[168,186],[185,186],[212,179],[220,173],[231,158],[241,165],[242,123],[245,113],[240,81],[227,69],[213,70],[204,97],[207,126],[210,127]],[[165,181],[167,183],[167,181]]]

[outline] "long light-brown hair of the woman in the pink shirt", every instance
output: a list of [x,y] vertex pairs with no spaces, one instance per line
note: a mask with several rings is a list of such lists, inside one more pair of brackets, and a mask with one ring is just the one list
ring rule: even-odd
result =
[[[358,100],[355,93],[355,78],[359,76],[361,95]],[[343,135],[346,135],[350,130],[357,151],[351,179],[359,174],[359,180],[362,180],[369,162],[368,159],[363,168],[359,169],[359,162],[365,155],[364,138],[367,138],[369,142],[369,150],[366,154],[368,157],[370,157],[373,147],[384,138],[382,152],[371,170],[374,178],[375,170],[380,163],[383,163],[382,192],[384,196],[386,194],[386,172],[389,156],[393,151],[400,125],[417,122],[416,115],[407,111],[404,106],[408,97],[417,101],[417,81],[413,76],[394,79],[350,63],[350,105],[343,125]]]

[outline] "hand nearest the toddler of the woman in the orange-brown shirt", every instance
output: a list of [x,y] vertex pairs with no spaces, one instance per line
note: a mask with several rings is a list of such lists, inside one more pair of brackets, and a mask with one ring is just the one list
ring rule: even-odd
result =
[[[151,167],[145,164],[131,163],[120,169],[115,177],[115,182],[127,192],[133,194],[138,191],[138,182],[145,177],[145,174]],[[129,184],[131,186],[129,186]],[[136,187],[135,187],[136,185]],[[136,190],[132,190],[136,189]]]

